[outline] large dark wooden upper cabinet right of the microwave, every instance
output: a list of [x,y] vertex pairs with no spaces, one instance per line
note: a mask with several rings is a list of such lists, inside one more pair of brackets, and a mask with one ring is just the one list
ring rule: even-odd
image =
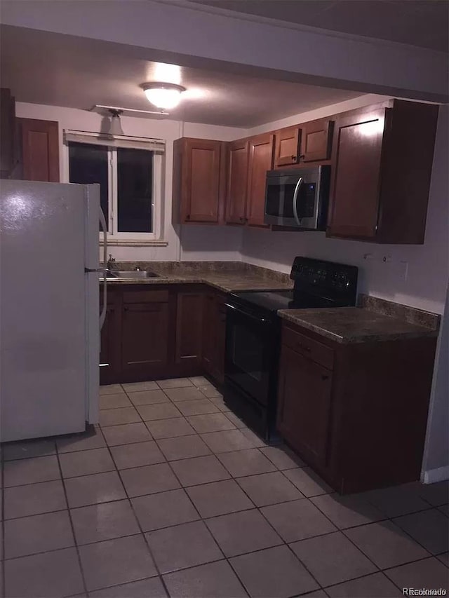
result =
[[404,100],[337,116],[328,236],[424,243],[437,118]]

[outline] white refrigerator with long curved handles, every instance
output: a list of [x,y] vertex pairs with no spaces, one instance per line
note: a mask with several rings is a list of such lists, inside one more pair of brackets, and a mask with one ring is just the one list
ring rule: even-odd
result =
[[1,442],[98,422],[99,222],[99,185],[0,181]]

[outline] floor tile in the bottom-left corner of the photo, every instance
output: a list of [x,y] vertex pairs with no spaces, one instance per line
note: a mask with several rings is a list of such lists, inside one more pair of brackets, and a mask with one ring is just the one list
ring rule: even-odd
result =
[[50,598],[83,592],[75,548],[5,561],[6,596]]

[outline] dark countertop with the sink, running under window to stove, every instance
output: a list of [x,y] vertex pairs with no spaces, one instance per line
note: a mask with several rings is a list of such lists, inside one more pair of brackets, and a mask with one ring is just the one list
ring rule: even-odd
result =
[[120,269],[139,266],[159,274],[157,278],[114,278],[108,285],[209,285],[225,293],[250,290],[292,289],[288,274],[243,262],[122,262]]

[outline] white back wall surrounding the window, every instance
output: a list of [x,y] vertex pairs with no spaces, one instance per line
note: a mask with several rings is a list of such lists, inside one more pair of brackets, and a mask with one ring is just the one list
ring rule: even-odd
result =
[[[16,116],[20,118],[58,121],[60,132],[60,179],[61,182],[68,182],[67,151],[62,143],[63,130],[99,131],[102,116],[85,110],[41,104],[26,104],[24,102],[17,102],[15,104],[15,112]],[[111,247],[110,252],[117,261],[207,259],[202,252],[209,249],[213,249],[214,259],[217,260],[229,261],[240,259],[238,252],[241,245],[241,231],[237,233],[235,229],[220,227],[220,233],[217,233],[217,229],[214,226],[199,226],[198,229],[193,226],[182,226],[181,231],[173,228],[171,222],[173,141],[183,136],[229,141],[244,136],[246,132],[239,128],[180,123],[152,118],[131,118],[129,116],[122,116],[121,124],[125,135],[138,135],[140,137],[154,137],[166,140],[163,240],[166,240],[168,245],[166,247]]]

